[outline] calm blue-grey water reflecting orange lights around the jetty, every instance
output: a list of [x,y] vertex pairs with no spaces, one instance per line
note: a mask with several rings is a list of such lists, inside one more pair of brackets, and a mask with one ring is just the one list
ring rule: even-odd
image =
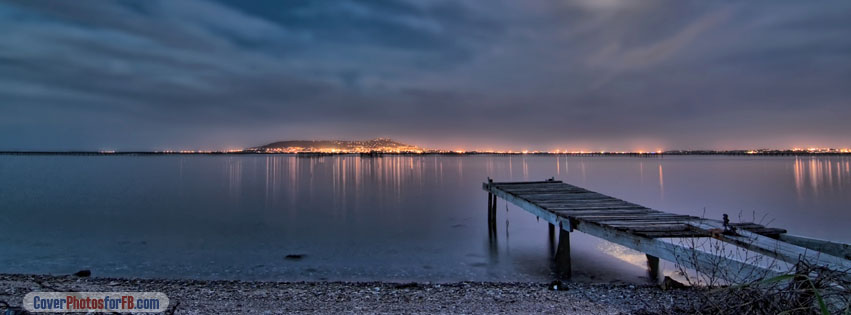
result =
[[[488,176],[851,241],[847,157],[0,156],[0,273],[550,280],[545,222],[500,200],[489,242]],[[641,253],[571,245],[579,281],[648,281]]]

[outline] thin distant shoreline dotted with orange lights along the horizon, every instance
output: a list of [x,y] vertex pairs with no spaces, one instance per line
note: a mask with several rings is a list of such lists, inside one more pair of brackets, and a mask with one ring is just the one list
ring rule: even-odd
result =
[[656,152],[584,152],[584,153],[554,153],[554,152],[424,152],[424,153],[395,153],[395,152],[372,152],[372,153],[352,153],[352,152],[262,152],[262,151],[190,151],[190,152],[162,152],[162,151],[0,151],[0,155],[71,155],[71,156],[120,156],[120,155],[292,155],[292,156],[342,156],[342,155],[359,155],[366,157],[380,156],[423,156],[423,155],[446,155],[446,156],[465,156],[465,155],[497,155],[497,156],[519,156],[519,155],[552,155],[552,156],[630,156],[630,157],[662,157],[665,155],[727,155],[727,156],[851,156],[851,152],[807,152],[793,150],[778,150],[765,152],[748,152],[746,150],[734,151],[665,151]]

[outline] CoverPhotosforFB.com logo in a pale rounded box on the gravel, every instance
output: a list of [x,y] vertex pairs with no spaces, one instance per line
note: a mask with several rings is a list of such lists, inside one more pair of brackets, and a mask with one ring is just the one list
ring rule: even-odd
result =
[[24,296],[29,312],[161,313],[168,309],[162,292],[30,292]]

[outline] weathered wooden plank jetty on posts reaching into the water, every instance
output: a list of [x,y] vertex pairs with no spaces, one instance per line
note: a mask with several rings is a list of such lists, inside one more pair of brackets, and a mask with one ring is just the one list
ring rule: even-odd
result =
[[[728,281],[780,275],[801,260],[831,270],[851,270],[851,248],[847,244],[788,235],[783,229],[665,213],[552,178],[533,182],[488,179],[482,188],[488,192],[488,224],[492,230],[496,228],[497,197],[549,222],[551,237],[558,227],[555,260],[565,277],[570,275],[573,231],[645,253],[651,275],[658,274],[660,258],[698,271],[723,268]],[[699,237],[718,239],[768,257],[771,262],[721,256],[671,240]]]

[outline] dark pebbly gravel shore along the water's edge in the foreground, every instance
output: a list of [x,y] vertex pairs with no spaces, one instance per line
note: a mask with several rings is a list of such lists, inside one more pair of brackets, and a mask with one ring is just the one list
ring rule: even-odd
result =
[[[655,286],[566,283],[243,282],[0,274],[0,301],[32,291],[158,291],[175,314],[568,313],[676,314],[696,292]],[[3,303],[0,303],[0,310]]]

